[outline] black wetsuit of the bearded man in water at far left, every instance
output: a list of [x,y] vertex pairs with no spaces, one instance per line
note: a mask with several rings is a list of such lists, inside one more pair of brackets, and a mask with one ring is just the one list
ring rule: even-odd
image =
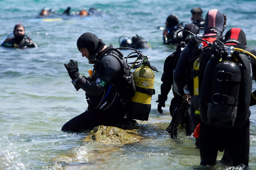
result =
[[31,37],[24,35],[22,40],[18,40],[14,36],[7,37],[6,40],[1,43],[1,46],[11,47],[11,48],[33,48],[38,47],[38,45],[32,41]]

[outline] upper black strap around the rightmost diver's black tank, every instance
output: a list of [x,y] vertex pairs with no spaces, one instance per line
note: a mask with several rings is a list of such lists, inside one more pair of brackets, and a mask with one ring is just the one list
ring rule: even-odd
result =
[[241,74],[239,73],[230,73],[223,70],[218,71],[217,80],[218,81],[234,81],[240,82]]

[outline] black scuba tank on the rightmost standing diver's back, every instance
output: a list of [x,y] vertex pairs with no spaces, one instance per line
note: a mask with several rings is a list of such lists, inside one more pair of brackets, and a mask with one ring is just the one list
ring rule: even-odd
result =
[[238,64],[221,61],[214,68],[207,123],[233,127],[237,114],[241,71]]

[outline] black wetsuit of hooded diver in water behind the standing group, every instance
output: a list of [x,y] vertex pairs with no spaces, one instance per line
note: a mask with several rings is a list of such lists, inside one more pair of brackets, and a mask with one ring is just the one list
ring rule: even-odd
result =
[[[177,42],[177,32],[180,31],[180,30],[183,30],[183,27],[181,26],[175,26],[173,28],[167,28],[167,32],[168,32],[168,35],[167,36],[163,36],[163,43],[164,44],[171,44],[171,45],[176,45],[178,42]],[[181,42],[183,39],[182,39],[182,32],[180,32],[178,34],[178,41]]]

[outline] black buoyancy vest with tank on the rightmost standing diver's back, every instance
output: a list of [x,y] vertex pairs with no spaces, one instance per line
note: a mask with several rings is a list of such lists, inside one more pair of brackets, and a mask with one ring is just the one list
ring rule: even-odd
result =
[[241,127],[250,116],[250,56],[213,44],[200,64],[201,121],[220,128]]

